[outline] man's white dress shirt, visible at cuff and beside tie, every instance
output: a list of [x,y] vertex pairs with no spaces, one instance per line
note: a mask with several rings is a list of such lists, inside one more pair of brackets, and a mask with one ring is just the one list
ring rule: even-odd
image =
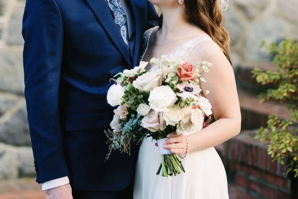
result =
[[[124,0],[120,0],[120,2],[121,2],[121,5],[124,9],[124,12],[126,13],[127,24],[128,24],[128,29],[129,29],[129,27],[131,27],[131,25],[133,25],[132,18],[131,18],[130,12],[129,12],[129,8],[128,8],[128,6],[127,6],[127,4]],[[132,34],[131,31],[128,31],[128,32],[129,32],[129,35]],[[44,191],[44,190],[47,190],[47,189],[60,187],[62,185],[68,184],[68,183],[69,183],[69,178],[67,176],[65,176],[65,177],[62,177],[62,178],[57,178],[57,179],[54,179],[54,180],[44,182],[44,183],[41,184],[41,187],[42,187],[42,190]]]

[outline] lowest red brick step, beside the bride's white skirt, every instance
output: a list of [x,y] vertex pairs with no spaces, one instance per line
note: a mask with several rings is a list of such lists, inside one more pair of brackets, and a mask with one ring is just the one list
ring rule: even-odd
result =
[[298,182],[287,176],[287,166],[267,154],[268,143],[255,139],[255,130],[242,131],[238,136],[216,146],[225,165],[229,181],[238,190],[255,198],[298,198]]

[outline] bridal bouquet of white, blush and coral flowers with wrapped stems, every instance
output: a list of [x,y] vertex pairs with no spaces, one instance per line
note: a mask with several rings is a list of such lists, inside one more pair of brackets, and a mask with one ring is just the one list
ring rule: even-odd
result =
[[[131,70],[116,74],[107,93],[107,101],[114,110],[110,124],[112,130],[106,130],[110,152],[118,149],[130,152],[130,144],[138,143],[144,137],[157,141],[161,153],[161,164],[157,175],[172,176],[185,172],[178,155],[163,149],[162,143],[167,135],[200,131],[205,116],[212,114],[211,104],[201,92],[202,75],[209,72],[212,64],[206,61],[191,65],[180,58],[150,60],[141,62]],[[208,93],[209,91],[207,91]]]

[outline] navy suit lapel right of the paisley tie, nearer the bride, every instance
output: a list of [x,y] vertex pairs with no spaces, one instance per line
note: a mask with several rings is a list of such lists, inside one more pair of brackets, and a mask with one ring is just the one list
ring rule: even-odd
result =
[[147,23],[147,1],[145,0],[128,0],[132,7],[132,16],[135,21],[135,41],[134,50],[132,53],[133,66],[138,64],[139,52],[140,52],[140,42],[142,42],[142,37],[146,28]]

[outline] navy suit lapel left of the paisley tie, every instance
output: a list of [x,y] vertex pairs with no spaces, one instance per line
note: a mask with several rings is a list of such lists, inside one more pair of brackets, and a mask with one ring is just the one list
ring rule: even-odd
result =
[[104,0],[85,0],[85,1],[93,10],[95,16],[104,27],[107,34],[110,35],[111,39],[118,47],[121,54],[124,56],[125,60],[129,63],[129,65],[131,65],[127,47],[120,35],[120,28],[117,24],[115,24],[114,18],[112,16],[112,13],[106,1]]

